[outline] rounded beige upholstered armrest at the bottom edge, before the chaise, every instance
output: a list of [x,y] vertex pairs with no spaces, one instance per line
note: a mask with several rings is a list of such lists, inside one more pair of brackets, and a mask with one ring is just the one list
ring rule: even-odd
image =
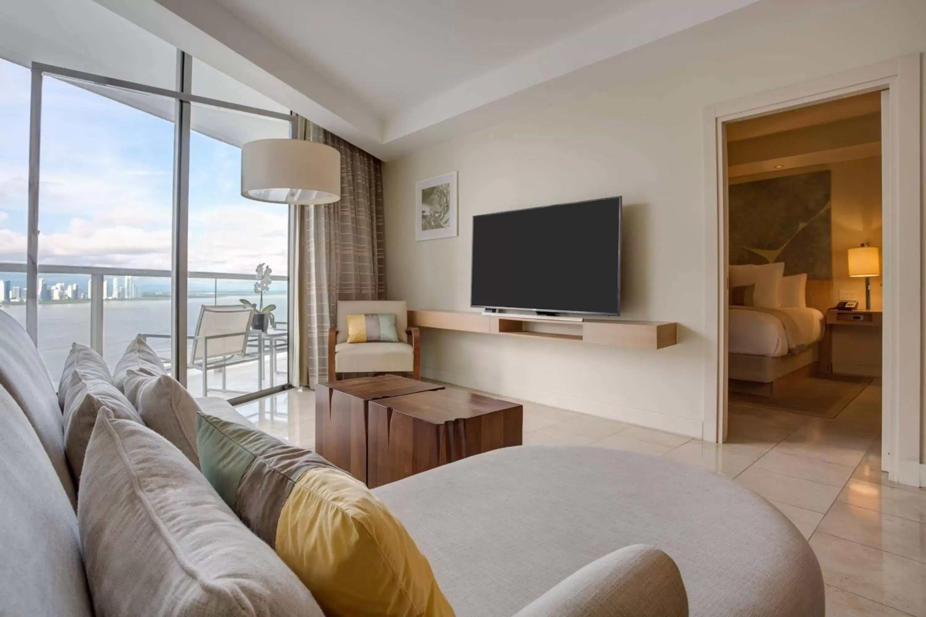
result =
[[675,561],[634,544],[592,561],[518,611],[515,617],[688,617]]

